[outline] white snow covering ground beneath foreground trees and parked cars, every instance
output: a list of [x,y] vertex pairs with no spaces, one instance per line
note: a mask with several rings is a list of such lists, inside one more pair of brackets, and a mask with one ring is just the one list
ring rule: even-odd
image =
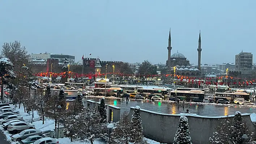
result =
[[[15,107],[14,105],[10,105],[10,107]],[[30,115],[28,113],[24,112],[24,107],[21,105],[20,109],[18,107],[16,107],[16,110],[20,111],[20,115],[23,116],[23,119],[28,122],[31,123],[31,118],[32,118],[32,113],[30,113]],[[34,111],[34,118],[33,118],[33,124],[35,125],[36,129],[40,129],[42,131],[46,131],[46,130],[50,130],[55,128],[55,123],[54,120],[52,119],[46,119],[44,120],[44,125],[42,124],[43,121],[40,120],[40,117],[37,113],[37,111]],[[12,141],[11,140],[11,136],[12,134],[10,134],[7,130],[4,130],[4,128],[2,127],[2,125],[0,125],[0,130],[4,133],[4,135],[7,137],[7,141],[10,141],[11,144],[20,144],[16,141]],[[154,140],[150,140],[150,139],[146,139],[145,140],[148,141],[148,143],[150,144],[160,144]],[[60,144],[84,144],[83,142],[79,142],[79,141],[73,141],[71,142],[69,138],[60,138],[59,139],[59,143]],[[106,142],[104,142],[103,140],[95,140],[94,144],[104,144]]]

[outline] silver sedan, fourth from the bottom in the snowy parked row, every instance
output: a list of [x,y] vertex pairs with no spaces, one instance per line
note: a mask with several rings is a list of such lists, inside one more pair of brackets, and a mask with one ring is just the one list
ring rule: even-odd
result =
[[7,127],[7,130],[10,133],[18,134],[19,131],[27,130],[27,129],[33,129],[35,128],[35,125],[31,123],[26,122],[13,122],[10,123],[10,125]]

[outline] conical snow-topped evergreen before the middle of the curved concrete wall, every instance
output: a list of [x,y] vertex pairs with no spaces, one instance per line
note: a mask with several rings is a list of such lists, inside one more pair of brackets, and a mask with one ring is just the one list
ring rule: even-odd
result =
[[180,117],[179,125],[174,136],[174,144],[192,144],[188,127],[188,119],[185,116]]

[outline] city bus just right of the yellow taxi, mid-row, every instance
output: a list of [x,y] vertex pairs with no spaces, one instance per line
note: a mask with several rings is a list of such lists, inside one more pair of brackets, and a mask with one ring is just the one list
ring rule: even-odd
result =
[[152,89],[147,89],[147,88],[138,88],[137,89],[137,94],[145,94],[146,96],[150,94],[154,95],[160,95],[160,96],[165,96],[167,95],[167,91],[164,88],[152,88]]

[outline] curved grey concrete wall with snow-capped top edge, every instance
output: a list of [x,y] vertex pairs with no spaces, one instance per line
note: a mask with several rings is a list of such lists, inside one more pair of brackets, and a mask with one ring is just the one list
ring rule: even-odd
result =
[[[134,107],[131,107],[129,118],[132,118]],[[172,143],[181,115],[188,118],[190,134],[193,144],[209,144],[216,126],[225,118],[233,119],[234,115],[222,117],[203,117],[196,114],[162,114],[141,109],[141,120],[143,134],[146,138],[160,143]],[[242,114],[244,121],[249,125],[251,131],[256,130],[256,126],[251,122],[250,114]]]

